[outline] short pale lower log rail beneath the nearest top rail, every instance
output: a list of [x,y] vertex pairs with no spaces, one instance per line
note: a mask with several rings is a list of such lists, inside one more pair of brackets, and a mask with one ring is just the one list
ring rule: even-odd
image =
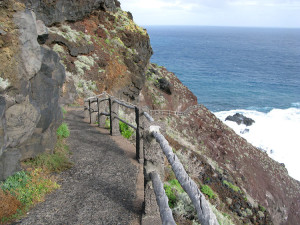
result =
[[164,190],[164,185],[161,182],[159,175],[156,172],[151,172],[150,177],[152,180],[152,185],[156,196],[157,205],[159,207],[162,224],[176,225],[172,215],[172,210],[170,209],[168,204],[169,200]]

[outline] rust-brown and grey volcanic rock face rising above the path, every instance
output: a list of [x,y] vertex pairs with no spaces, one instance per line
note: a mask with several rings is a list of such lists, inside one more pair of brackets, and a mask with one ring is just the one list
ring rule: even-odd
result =
[[53,150],[59,103],[102,91],[138,101],[152,49],[119,7],[117,0],[1,1],[0,180],[21,160]]

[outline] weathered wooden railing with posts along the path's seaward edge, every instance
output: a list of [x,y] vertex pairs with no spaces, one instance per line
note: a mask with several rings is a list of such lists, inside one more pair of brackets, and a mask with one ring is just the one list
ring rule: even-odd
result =
[[[102,105],[102,103],[105,102],[108,102],[109,112],[102,112],[102,109],[107,108]],[[130,124],[119,117],[119,106],[134,110],[136,125]],[[186,115],[191,110],[198,107],[201,106],[192,106],[186,111],[181,113],[177,112],[176,114],[173,114],[172,111],[167,111],[167,115]],[[218,224],[216,216],[212,212],[205,196],[200,192],[196,183],[186,173],[183,165],[173,153],[168,141],[160,133],[160,127],[154,124],[155,121],[150,114],[157,111],[152,110],[151,112],[151,110],[149,111],[147,108],[141,110],[138,106],[124,102],[107,93],[86,99],[85,110],[88,111],[90,123],[93,122],[92,114],[97,113],[96,118],[98,126],[100,127],[104,127],[105,119],[106,117],[109,117],[111,135],[120,135],[119,121],[122,121],[136,131],[136,159],[144,164],[145,190],[143,224],[176,224],[172,211],[169,208],[168,198],[161,181],[164,177],[164,160],[162,153],[167,157],[177,180],[190,197],[197,211],[199,222],[202,225]],[[160,113],[165,113],[165,111],[161,110]],[[156,140],[157,143],[153,143],[152,140]],[[152,194],[153,192],[154,194]],[[157,204],[153,204],[155,201],[153,200],[153,196],[155,196]],[[160,221],[155,221],[157,220],[157,217],[159,217],[154,215],[157,212],[157,207],[160,212]]]

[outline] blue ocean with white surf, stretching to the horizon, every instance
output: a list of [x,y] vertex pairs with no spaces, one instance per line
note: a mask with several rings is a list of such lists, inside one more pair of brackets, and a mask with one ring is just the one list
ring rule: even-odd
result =
[[[300,29],[146,26],[153,63],[300,181]],[[255,120],[225,121],[235,113]]]

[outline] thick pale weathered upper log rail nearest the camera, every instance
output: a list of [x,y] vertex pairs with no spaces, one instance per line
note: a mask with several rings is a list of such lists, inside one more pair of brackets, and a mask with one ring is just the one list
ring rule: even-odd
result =
[[157,129],[152,131],[152,135],[159,143],[161,149],[166,155],[183,190],[185,190],[185,192],[192,200],[192,203],[197,211],[199,222],[202,225],[218,225],[219,223],[217,221],[217,218],[212,212],[208,202],[205,199],[205,196],[200,192],[197,184],[188,176],[183,165],[181,164],[177,156],[173,153],[168,141]]

